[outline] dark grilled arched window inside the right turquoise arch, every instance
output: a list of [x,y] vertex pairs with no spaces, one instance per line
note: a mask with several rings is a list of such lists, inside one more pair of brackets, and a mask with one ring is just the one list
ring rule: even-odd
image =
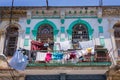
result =
[[72,31],[72,41],[76,43],[78,41],[89,40],[88,30],[85,25],[77,24],[73,27]]

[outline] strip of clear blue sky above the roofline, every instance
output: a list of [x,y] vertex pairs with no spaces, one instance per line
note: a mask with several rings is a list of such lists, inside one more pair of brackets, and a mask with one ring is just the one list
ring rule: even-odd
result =
[[[99,6],[99,0],[48,0],[49,6]],[[0,6],[11,6],[12,0],[0,0]],[[14,6],[46,6],[46,0],[14,0]],[[120,6],[120,0],[103,0],[103,6]]]

